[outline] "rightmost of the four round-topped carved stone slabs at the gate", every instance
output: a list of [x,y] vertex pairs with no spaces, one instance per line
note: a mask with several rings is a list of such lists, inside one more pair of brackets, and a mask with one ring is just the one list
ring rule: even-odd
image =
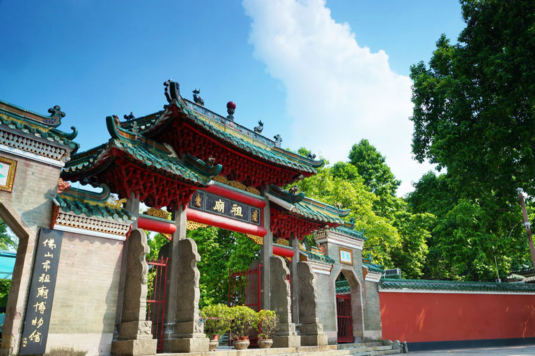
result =
[[316,275],[307,262],[297,264],[299,273],[299,331],[302,346],[327,345],[327,335],[323,333],[323,324],[318,320],[318,295],[316,293]]

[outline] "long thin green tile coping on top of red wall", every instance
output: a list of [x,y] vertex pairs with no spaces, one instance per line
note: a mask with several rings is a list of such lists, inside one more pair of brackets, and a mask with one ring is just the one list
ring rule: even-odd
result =
[[438,280],[393,280],[383,278],[381,289],[412,289],[421,291],[516,292],[535,293],[535,284],[460,282]]

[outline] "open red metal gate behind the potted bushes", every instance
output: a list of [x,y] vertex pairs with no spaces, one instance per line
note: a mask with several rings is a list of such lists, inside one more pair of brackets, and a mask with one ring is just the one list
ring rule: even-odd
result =
[[[245,305],[253,309],[255,312],[260,311],[261,308],[261,268],[242,270],[242,271],[228,271],[228,306],[235,307],[237,305]],[[232,338],[228,338],[228,346],[231,346]],[[251,346],[258,345],[258,330],[251,330],[249,332],[249,341]]]

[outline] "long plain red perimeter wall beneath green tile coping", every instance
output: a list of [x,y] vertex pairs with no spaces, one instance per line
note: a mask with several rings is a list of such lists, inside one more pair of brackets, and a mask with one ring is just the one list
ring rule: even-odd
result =
[[380,292],[379,298],[383,339],[535,337],[535,295]]

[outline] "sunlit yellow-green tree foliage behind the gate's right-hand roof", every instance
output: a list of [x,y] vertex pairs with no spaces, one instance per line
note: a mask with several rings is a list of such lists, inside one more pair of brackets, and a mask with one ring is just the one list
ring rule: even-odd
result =
[[[299,152],[308,153],[303,148]],[[350,159],[325,165],[297,186],[313,199],[351,209],[346,219],[355,218],[355,229],[364,230],[368,238],[364,254],[370,253],[385,268],[403,268],[405,277],[420,277],[434,216],[408,211],[408,204],[394,195],[399,181],[394,179],[385,158],[367,140],[353,145]]]

